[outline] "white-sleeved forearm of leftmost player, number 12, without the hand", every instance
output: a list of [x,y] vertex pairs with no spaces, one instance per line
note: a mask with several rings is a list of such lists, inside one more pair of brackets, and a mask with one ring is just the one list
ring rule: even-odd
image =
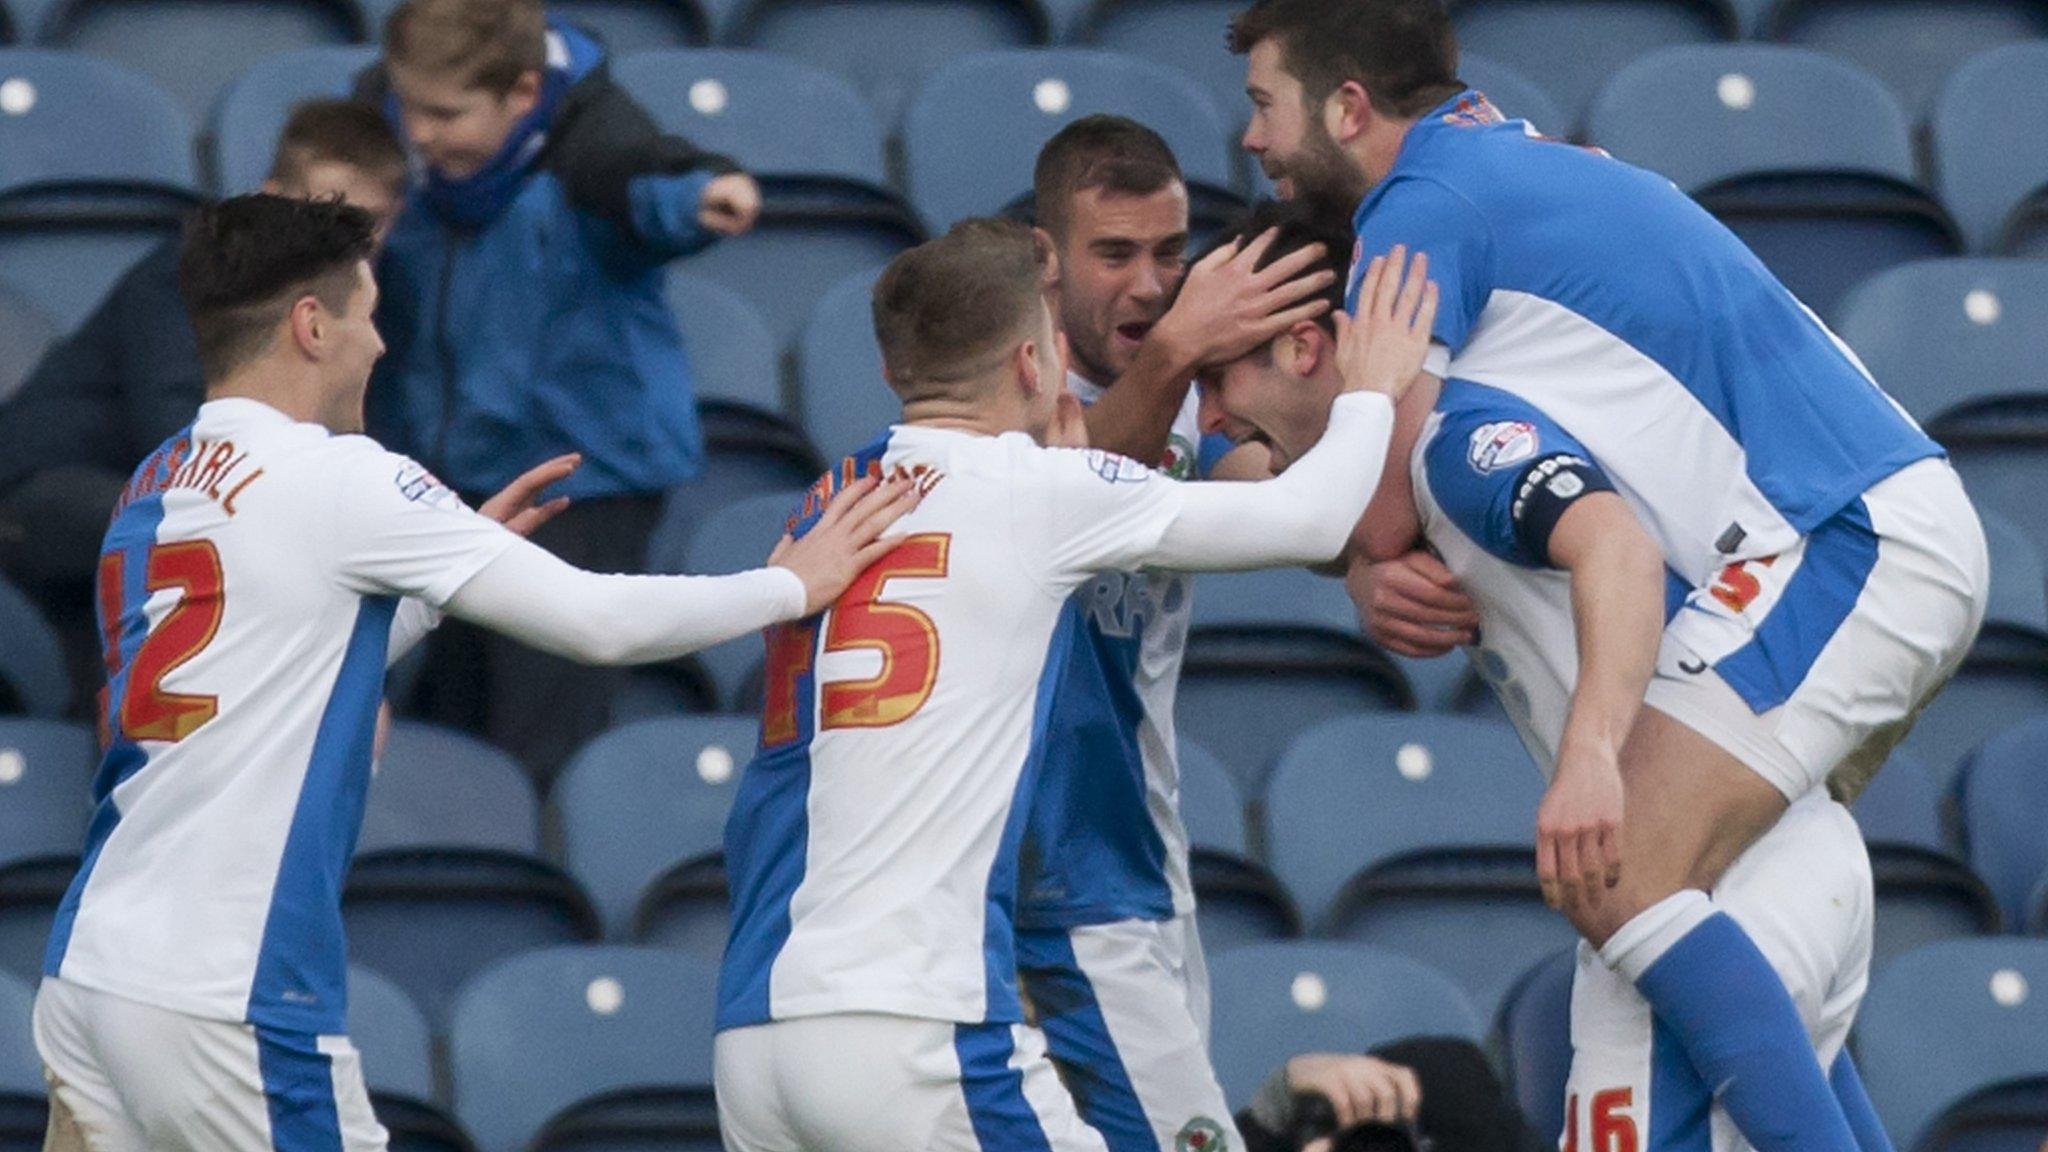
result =
[[786,568],[735,576],[600,576],[518,543],[477,572],[449,613],[586,664],[647,664],[803,615]]

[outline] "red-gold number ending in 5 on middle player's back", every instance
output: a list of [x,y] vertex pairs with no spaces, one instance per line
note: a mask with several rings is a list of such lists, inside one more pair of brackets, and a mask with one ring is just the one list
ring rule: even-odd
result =
[[817,654],[823,623],[825,652],[872,650],[883,666],[872,676],[827,681],[819,687],[819,730],[889,728],[903,724],[932,697],[938,678],[938,625],[911,605],[885,599],[889,580],[946,576],[950,533],[903,537],[846,588],[819,619],[768,629],[768,670],[762,701],[762,746],[788,744],[801,734],[797,709],[803,678]]

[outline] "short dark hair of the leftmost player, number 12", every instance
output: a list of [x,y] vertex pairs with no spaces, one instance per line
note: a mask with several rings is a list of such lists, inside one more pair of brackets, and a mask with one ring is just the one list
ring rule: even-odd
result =
[[291,307],[313,295],[346,316],[356,264],[377,248],[371,213],[340,199],[233,197],[184,225],[178,293],[207,383],[260,355]]

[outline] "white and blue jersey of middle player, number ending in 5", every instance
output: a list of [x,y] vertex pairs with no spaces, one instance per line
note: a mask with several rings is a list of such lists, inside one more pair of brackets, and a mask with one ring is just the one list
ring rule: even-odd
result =
[[1081,623],[1069,596],[1178,510],[1174,482],[1120,457],[897,426],[805,515],[870,469],[926,496],[831,609],[768,637],[762,750],[725,832],[721,1027],[1020,1019],[1020,799]]

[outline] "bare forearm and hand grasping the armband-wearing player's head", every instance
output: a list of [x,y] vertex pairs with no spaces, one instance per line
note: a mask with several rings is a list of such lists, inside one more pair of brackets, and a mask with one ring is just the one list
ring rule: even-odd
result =
[[1159,459],[1196,373],[1329,312],[1319,293],[1337,273],[1309,273],[1325,256],[1321,244],[1257,266],[1276,236],[1278,230],[1270,230],[1243,246],[1225,244],[1188,269],[1174,307],[1153,324],[1116,385],[1090,406],[1094,447],[1139,461]]

